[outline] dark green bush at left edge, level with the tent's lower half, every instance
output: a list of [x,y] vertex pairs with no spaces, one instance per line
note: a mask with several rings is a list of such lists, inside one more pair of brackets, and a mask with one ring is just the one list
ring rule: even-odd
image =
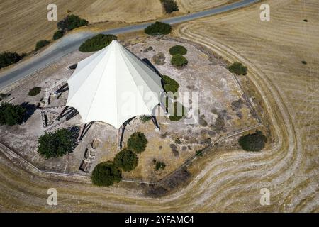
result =
[[13,126],[23,122],[26,109],[19,105],[4,102],[0,106],[0,125]]

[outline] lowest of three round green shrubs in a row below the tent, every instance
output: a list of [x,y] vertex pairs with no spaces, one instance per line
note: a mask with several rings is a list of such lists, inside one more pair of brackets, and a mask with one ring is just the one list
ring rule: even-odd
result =
[[122,179],[122,171],[112,162],[101,162],[94,168],[91,180],[97,186],[111,186]]

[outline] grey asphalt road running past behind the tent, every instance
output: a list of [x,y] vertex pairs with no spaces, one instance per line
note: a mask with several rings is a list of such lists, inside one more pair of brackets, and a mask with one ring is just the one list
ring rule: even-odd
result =
[[[198,13],[192,13],[185,16],[179,16],[174,18],[167,18],[162,20],[162,22],[175,24],[186,21],[192,21],[197,18],[202,18],[205,16],[213,16],[218,13],[224,13],[226,11],[231,11],[233,9],[238,9],[250,4],[253,4],[259,0],[242,0],[235,2],[233,4],[220,6],[214,9],[209,9],[207,11],[201,11]],[[133,31],[140,31],[151,23],[142,23],[135,26],[127,26],[123,28],[115,28],[108,31],[104,31],[103,34],[113,34],[117,35],[120,33],[130,33]],[[79,46],[91,36],[96,35],[96,33],[81,33],[74,36],[67,35],[65,38],[62,38],[58,42],[54,43],[50,48],[47,48],[44,52],[39,54],[38,56],[33,57],[28,60],[28,62],[21,62],[15,67],[5,71],[0,74],[0,89],[4,89],[9,86],[13,82],[17,82],[19,79],[23,79],[24,77],[28,77],[30,74],[43,69],[47,65],[52,64],[53,62],[57,62],[61,57],[67,55],[69,52],[77,50]],[[69,37],[68,37],[69,36]]]

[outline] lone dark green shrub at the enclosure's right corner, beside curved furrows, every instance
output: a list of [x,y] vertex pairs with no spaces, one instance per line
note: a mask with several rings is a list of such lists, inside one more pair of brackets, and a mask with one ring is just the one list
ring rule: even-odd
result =
[[261,131],[256,131],[256,133],[240,137],[238,143],[243,150],[259,151],[264,148],[265,143],[267,143],[267,138],[262,135]]

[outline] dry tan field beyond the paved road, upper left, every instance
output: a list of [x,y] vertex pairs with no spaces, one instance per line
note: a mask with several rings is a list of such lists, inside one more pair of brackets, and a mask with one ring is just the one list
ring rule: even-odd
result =
[[[0,52],[33,50],[41,39],[50,40],[57,21],[47,21],[47,0],[4,0],[0,2]],[[57,20],[71,11],[90,23],[110,21],[105,28],[155,20],[164,15],[162,4],[154,0],[57,0]],[[114,24],[116,22],[116,24]]]

